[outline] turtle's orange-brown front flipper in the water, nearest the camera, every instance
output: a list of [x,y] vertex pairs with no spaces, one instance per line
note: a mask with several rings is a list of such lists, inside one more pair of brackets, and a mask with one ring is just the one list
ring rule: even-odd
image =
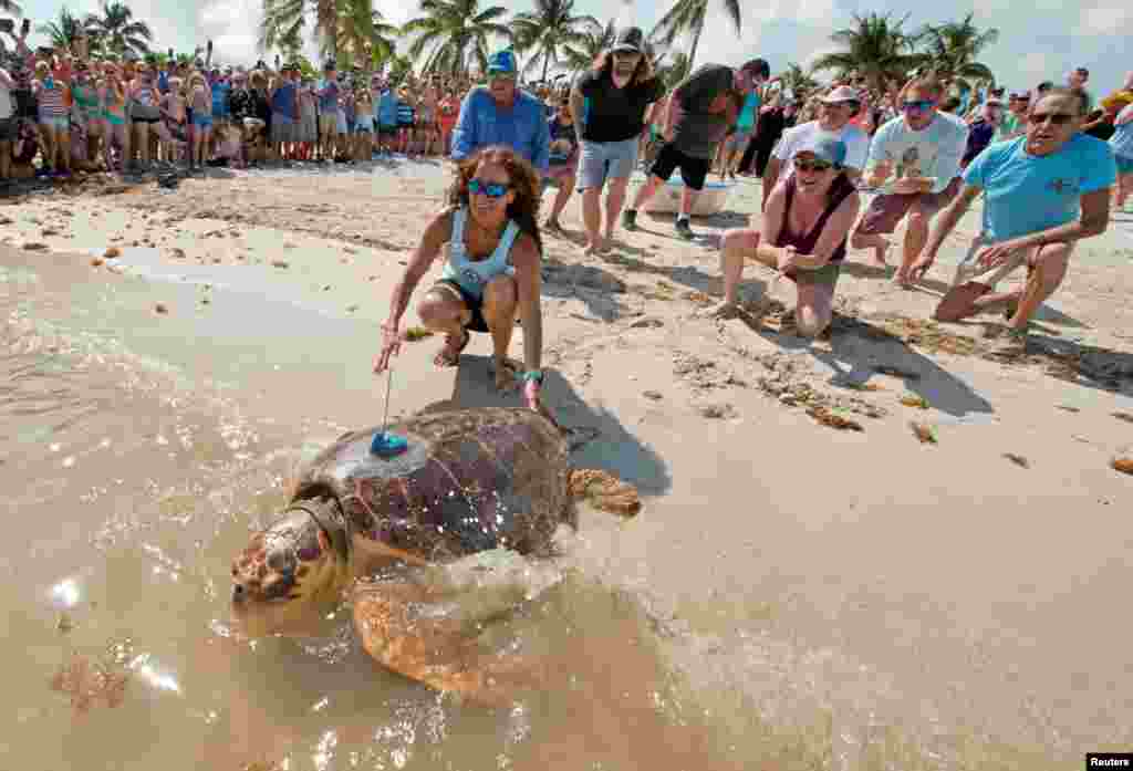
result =
[[538,687],[534,670],[482,652],[475,625],[429,611],[445,601],[410,581],[359,582],[353,622],[363,649],[399,675],[485,706],[510,706],[519,692]]

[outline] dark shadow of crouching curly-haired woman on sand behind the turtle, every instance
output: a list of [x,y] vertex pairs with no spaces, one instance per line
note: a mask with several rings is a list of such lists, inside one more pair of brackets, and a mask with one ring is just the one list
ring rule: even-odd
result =
[[[672,486],[668,466],[651,448],[627,429],[617,416],[604,408],[593,408],[554,369],[544,368],[543,403],[571,437],[577,468],[605,469],[636,485],[642,495],[661,495]],[[501,394],[495,389],[492,358],[460,358],[452,397],[434,402],[421,412],[467,410],[485,406],[520,406],[519,392]]]

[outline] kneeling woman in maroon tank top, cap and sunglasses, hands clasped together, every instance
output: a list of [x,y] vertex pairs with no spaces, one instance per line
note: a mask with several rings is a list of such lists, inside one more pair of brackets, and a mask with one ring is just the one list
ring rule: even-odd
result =
[[795,326],[817,337],[830,323],[834,286],[846,254],[846,234],[858,219],[858,191],[842,170],[845,145],[815,137],[794,156],[794,173],[767,198],[763,233],[732,230],[724,234],[721,269],[724,302],[718,315],[734,314],[743,260],[778,271],[799,288]]

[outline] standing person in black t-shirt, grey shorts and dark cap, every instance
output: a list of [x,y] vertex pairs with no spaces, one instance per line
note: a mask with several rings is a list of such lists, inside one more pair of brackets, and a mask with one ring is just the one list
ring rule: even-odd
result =
[[[648,126],[646,112],[664,93],[638,27],[619,32],[610,51],[579,76],[571,89],[571,112],[582,129],[578,190],[582,194],[587,254],[602,251],[613,235],[637,165],[638,139]],[[606,231],[599,235],[599,199],[606,180]]]

